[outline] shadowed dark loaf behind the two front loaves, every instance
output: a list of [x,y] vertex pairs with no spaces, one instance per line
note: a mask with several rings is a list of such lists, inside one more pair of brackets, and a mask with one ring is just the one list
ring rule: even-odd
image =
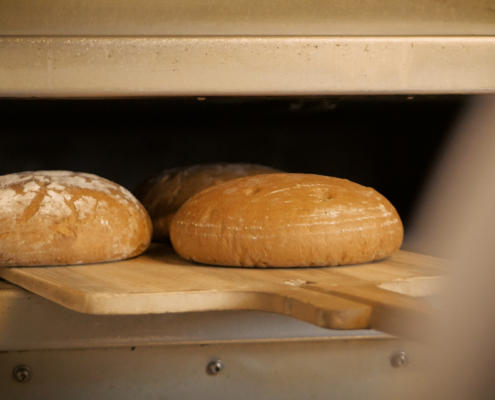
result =
[[255,164],[198,164],[165,170],[134,191],[148,210],[153,223],[153,240],[169,239],[170,223],[177,210],[196,193],[233,179],[273,174],[279,170]]

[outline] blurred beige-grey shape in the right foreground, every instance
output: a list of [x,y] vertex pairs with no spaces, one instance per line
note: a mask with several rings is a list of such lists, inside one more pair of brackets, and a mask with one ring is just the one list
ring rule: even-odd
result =
[[495,398],[495,96],[477,96],[445,148],[413,240],[452,261],[442,312],[427,329],[422,399]]

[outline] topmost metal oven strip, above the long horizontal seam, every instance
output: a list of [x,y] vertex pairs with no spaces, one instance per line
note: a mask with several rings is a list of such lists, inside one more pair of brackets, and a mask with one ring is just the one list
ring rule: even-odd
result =
[[0,35],[493,35],[491,0],[0,0]]

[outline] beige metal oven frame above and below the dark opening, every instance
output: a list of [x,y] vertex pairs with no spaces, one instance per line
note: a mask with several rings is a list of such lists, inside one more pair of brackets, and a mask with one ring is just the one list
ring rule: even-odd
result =
[[[494,10],[490,0],[0,0],[0,97],[494,93]],[[259,312],[90,316],[0,285],[6,399],[407,399],[424,379],[421,345],[379,332]],[[219,359],[223,370],[208,373]]]

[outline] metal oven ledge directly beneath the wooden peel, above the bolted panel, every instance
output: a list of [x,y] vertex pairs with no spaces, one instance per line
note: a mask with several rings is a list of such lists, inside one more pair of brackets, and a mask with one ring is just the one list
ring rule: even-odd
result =
[[283,315],[254,311],[87,315],[68,310],[5,281],[0,281],[0,327],[0,352],[164,343],[388,337],[371,330],[333,331]]

